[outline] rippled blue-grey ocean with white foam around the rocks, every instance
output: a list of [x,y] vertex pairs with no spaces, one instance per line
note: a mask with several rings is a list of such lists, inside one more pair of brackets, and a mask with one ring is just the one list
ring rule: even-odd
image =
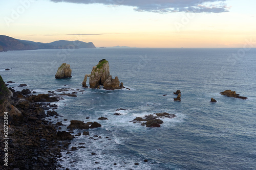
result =
[[[118,76],[131,90],[82,87],[84,75],[101,59],[109,61],[112,77]],[[72,78],[55,79],[62,63],[70,64]],[[0,53],[0,75],[5,82],[15,82],[8,87],[18,91],[85,90],[77,92],[77,98],[64,96],[56,103],[63,117],[48,118],[53,123],[61,121],[61,130],[66,131],[70,120],[102,125],[88,130],[89,136],[71,141],[70,149],[85,148],[63,151],[58,163],[64,167],[256,169],[256,48],[9,51]],[[227,89],[248,99],[220,94]],[[174,102],[176,90],[181,90],[181,102]],[[218,102],[210,103],[211,98]],[[176,117],[162,118],[160,128],[130,122],[162,112]],[[108,120],[98,120],[101,116]],[[74,130],[74,134],[83,131]]]

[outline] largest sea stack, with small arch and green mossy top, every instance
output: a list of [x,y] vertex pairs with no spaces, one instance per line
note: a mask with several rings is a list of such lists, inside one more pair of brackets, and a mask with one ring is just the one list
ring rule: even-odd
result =
[[82,82],[83,87],[87,87],[87,77],[90,77],[90,88],[99,88],[100,85],[103,85],[103,88],[106,90],[125,88],[123,83],[119,82],[118,77],[112,79],[109,62],[105,59],[100,60],[99,63],[93,67],[91,75],[84,76]]

